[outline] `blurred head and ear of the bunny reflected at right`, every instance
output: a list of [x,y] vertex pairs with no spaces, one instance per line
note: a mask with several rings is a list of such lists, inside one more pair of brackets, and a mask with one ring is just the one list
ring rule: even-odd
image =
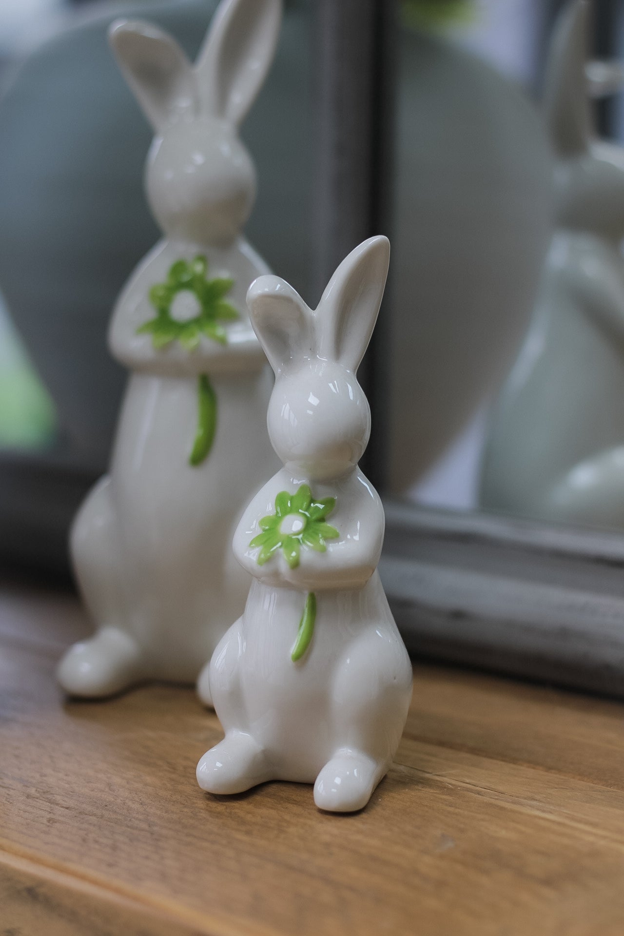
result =
[[588,0],[572,0],[563,9],[548,58],[544,105],[556,154],[557,220],[559,227],[619,241],[624,237],[624,149],[596,138],[589,92],[612,93],[621,81],[618,69],[608,66],[594,66],[588,74],[589,14]]

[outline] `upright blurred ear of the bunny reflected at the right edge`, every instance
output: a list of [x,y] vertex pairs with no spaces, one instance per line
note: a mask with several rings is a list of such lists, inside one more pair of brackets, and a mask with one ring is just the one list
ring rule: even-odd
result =
[[560,155],[587,149],[592,134],[586,62],[589,6],[572,0],[559,15],[548,56],[544,108],[550,136]]

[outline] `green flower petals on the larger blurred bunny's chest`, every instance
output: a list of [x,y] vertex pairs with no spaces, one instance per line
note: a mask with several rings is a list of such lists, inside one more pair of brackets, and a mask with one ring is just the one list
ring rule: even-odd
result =
[[[194,260],[177,260],[169,268],[165,283],[156,283],[150,289],[150,302],[157,312],[155,318],[137,329],[137,334],[151,334],[155,348],[163,348],[178,341],[187,351],[194,351],[202,334],[215,342],[227,344],[227,333],[222,322],[232,322],[239,313],[224,296],[234,280],[206,278],[208,260],[196,256]],[[171,315],[171,304],[180,292],[191,292],[199,302],[200,312],[195,318],[179,322]]]

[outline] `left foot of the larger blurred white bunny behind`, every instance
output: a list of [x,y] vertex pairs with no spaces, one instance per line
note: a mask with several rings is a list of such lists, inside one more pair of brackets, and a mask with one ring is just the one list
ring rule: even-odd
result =
[[114,695],[144,676],[138,644],[117,627],[104,627],[91,640],[74,644],[56,671],[68,695],[88,698]]

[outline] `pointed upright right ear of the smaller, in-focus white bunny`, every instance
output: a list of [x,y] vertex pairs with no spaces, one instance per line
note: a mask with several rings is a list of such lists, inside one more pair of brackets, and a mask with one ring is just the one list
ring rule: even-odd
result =
[[356,373],[377,321],[389,262],[386,237],[371,237],[342,260],[316,310],[322,358],[339,360]]

